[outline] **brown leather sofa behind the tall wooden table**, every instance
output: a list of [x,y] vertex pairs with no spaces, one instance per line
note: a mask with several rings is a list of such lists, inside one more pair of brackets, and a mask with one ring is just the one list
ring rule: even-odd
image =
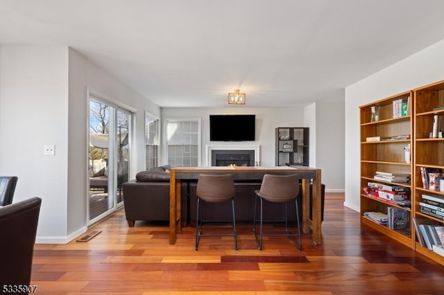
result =
[[[123,184],[123,202],[126,220],[134,226],[135,220],[148,222],[169,221],[169,172],[167,170],[142,171],[136,179]],[[184,224],[194,224],[196,220],[196,181],[182,182],[181,214]],[[253,221],[255,206],[255,190],[259,190],[259,181],[239,182],[235,184],[236,220],[239,222]],[[311,188],[311,186],[310,186]],[[324,215],[325,185],[321,186],[321,212]],[[311,201],[311,189],[310,189]],[[267,204],[264,220],[281,220],[284,216],[282,204]],[[225,208],[226,207],[226,208]],[[289,204],[289,220],[295,220],[294,203]],[[299,218],[302,220],[302,188],[298,197]],[[231,220],[230,203],[205,204],[204,220]]]

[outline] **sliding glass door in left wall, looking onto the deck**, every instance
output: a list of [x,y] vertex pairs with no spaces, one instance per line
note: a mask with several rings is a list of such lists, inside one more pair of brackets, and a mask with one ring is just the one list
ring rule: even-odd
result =
[[129,178],[131,113],[89,97],[89,221],[123,205],[122,184]]

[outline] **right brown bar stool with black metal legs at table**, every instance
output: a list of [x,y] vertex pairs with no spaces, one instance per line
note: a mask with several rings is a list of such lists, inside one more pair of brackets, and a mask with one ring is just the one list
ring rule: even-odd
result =
[[[295,237],[299,236],[298,249],[302,250],[302,239],[300,235],[300,224],[298,215],[298,202],[297,197],[299,195],[299,177],[298,175],[264,175],[262,179],[262,184],[260,190],[255,190],[255,213],[253,217],[253,234],[255,235],[257,241],[257,247],[262,250],[262,236],[264,235],[278,235],[278,236],[289,236]],[[259,216],[259,238],[256,234],[256,211],[257,211],[257,199],[260,199],[260,216]],[[277,220],[285,222],[285,233],[267,233],[262,232],[263,220],[263,207],[264,199],[272,203],[284,203],[285,204],[285,220]],[[298,227],[298,233],[289,232],[288,228],[288,203],[294,200],[296,204],[296,226]]]

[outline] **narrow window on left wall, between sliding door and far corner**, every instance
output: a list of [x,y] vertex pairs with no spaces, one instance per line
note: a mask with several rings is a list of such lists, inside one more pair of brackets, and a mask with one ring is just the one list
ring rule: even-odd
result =
[[159,118],[145,112],[145,168],[159,166]]

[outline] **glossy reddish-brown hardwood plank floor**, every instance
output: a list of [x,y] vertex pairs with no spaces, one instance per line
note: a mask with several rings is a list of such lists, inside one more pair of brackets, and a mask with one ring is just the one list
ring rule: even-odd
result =
[[326,194],[321,246],[304,234],[302,251],[281,237],[259,251],[251,225],[238,230],[238,251],[231,237],[194,251],[194,228],[170,245],[167,224],[129,228],[119,211],[89,242],[35,245],[32,284],[37,294],[444,294],[443,266],[361,226],[343,194]]

